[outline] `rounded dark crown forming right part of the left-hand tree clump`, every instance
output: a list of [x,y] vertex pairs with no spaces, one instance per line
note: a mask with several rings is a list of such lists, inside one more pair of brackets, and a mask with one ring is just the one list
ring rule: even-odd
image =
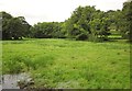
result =
[[26,36],[30,25],[24,21],[24,18],[12,18],[9,21],[10,37],[19,39]]

